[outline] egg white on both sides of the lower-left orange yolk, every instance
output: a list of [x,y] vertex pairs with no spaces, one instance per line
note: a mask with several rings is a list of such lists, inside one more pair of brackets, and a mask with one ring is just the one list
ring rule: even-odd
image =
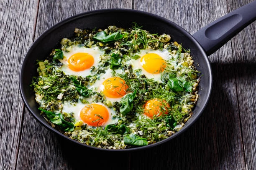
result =
[[[109,113],[108,121],[105,122],[104,125],[102,125],[103,127],[118,122],[118,118],[113,117],[114,115],[116,115],[113,108],[109,108],[109,107],[107,107],[106,105],[104,105],[103,103],[100,103],[100,102],[97,102],[96,104],[99,104],[99,105],[102,105],[102,106],[106,107],[107,110],[108,110],[108,113]],[[64,102],[62,104],[62,112],[74,113],[75,122],[82,121],[82,119],[80,117],[80,112],[81,112],[82,108],[86,105],[88,105],[88,104],[84,104],[80,101],[77,102],[77,103]]]

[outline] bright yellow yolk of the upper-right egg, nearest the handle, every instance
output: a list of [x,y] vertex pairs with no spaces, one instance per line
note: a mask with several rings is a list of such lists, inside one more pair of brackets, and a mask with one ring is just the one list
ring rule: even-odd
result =
[[159,74],[164,71],[166,62],[155,53],[148,53],[141,57],[141,66],[149,73]]

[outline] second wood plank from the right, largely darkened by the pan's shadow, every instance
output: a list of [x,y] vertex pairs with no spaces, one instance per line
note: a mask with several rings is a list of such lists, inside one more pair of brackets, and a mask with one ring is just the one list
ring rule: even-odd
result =
[[[157,1],[142,3],[138,0],[134,2],[134,9],[163,16],[191,33],[228,13],[227,2],[221,0],[199,2],[173,0],[161,3]],[[240,35],[246,37],[244,32]],[[209,56],[214,77],[213,89],[209,104],[200,119],[187,132],[165,145],[148,151],[131,153],[131,169],[246,168],[236,92],[237,82],[235,78],[230,78],[234,77],[236,71],[233,67],[231,48],[229,41]],[[248,53],[255,54],[255,52]],[[138,159],[136,155],[144,156]]]

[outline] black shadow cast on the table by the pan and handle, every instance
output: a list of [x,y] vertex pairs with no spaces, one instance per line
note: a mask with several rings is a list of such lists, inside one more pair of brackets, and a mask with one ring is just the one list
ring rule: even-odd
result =
[[62,143],[65,159],[74,169],[245,168],[236,75],[238,78],[255,76],[256,63],[212,63],[211,66],[213,88],[208,105],[197,122],[177,138],[132,153],[101,152],[72,143],[66,147],[67,143]]

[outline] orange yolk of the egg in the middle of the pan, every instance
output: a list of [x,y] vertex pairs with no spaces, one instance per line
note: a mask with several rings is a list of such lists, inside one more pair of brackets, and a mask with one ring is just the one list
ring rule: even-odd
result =
[[125,80],[119,77],[110,77],[102,83],[100,89],[107,97],[119,98],[126,94],[128,85],[126,85]]

